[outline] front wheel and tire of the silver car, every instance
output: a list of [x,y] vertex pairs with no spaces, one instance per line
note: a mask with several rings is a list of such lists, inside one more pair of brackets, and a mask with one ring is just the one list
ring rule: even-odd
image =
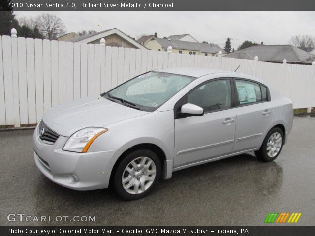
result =
[[128,154],[118,165],[114,185],[119,196],[135,200],[147,196],[161,177],[161,163],[156,153],[137,150]]

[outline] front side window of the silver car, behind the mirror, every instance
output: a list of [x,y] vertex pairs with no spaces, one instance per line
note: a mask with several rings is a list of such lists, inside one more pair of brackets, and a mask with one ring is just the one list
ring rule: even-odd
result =
[[187,102],[202,107],[204,112],[231,107],[231,81],[229,79],[210,81],[192,90]]

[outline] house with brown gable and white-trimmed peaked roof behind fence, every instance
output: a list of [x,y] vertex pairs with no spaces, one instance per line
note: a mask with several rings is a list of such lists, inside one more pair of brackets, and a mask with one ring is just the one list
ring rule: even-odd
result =
[[74,37],[70,41],[74,43],[93,43],[99,44],[101,38],[104,38],[107,46],[123,47],[123,48],[139,48],[145,50],[146,47],[138,43],[133,38],[126,35],[119,29],[108,29],[101,32],[96,32],[88,35]]

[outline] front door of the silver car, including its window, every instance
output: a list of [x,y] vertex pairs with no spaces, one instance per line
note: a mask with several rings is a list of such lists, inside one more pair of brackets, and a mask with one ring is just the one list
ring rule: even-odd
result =
[[174,168],[232,152],[236,109],[231,79],[201,84],[182,100],[204,109],[203,116],[175,119]]

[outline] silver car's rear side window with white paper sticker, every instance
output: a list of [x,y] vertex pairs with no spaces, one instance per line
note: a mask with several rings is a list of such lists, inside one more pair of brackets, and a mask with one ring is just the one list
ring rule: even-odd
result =
[[[258,83],[246,80],[235,80],[235,84],[237,89],[238,104],[251,104],[264,101],[262,100],[260,85]],[[266,91],[264,99],[266,100]]]

